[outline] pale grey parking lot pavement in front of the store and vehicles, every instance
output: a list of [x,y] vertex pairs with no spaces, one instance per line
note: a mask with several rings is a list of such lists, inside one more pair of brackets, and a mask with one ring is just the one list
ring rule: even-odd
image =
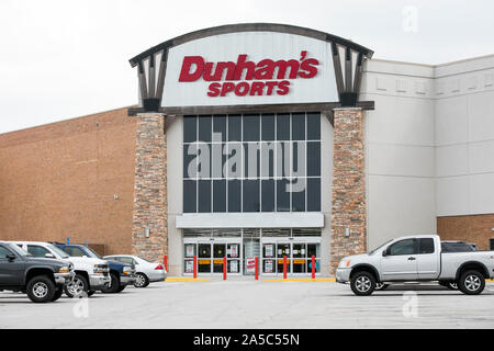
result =
[[494,328],[494,283],[467,296],[396,286],[355,296],[335,282],[164,282],[33,304],[0,293],[0,328]]

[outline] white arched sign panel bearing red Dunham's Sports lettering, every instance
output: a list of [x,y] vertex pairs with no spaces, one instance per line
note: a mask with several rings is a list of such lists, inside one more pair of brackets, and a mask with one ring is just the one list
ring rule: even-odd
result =
[[164,106],[336,102],[330,43],[274,32],[209,36],[168,54]]

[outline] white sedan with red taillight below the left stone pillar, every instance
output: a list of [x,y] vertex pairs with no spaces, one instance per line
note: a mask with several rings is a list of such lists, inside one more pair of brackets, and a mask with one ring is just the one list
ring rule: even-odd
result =
[[105,260],[119,261],[122,263],[133,263],[136,272],[135,287],[146,287],[149,283],[162,282],[167,279],[167,270],[165,269],[165,265],[159,262],[149,262],[133,254],[111,254],[103,258]]

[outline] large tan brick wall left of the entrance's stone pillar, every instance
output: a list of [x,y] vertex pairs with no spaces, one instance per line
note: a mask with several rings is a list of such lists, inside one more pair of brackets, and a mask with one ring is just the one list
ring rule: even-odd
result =
[[0,240],[130,253],[135,128],[125,107],[0,135]]

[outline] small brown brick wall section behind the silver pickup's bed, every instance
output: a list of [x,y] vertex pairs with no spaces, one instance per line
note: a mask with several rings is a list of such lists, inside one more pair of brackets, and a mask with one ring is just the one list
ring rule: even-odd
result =
[[448,216],[437,218],[437,234],[442,240],[475,242],[481,250],[489,250],[489,239],[494,238],[494,214]]

